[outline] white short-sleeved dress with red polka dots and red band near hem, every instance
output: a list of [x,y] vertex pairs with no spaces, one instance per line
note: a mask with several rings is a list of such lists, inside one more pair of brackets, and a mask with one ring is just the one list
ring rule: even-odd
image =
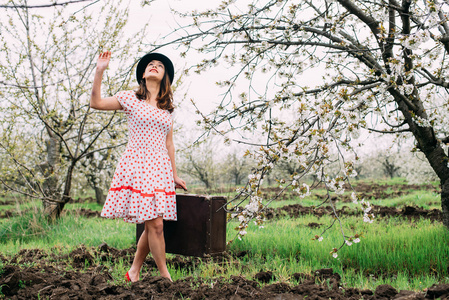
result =
[[175,184],[166,146],[172,116],[139,100],[134,91],[115,97],[127,115],[129,137],[101,216],[129,223],[159,216],[176,220]]

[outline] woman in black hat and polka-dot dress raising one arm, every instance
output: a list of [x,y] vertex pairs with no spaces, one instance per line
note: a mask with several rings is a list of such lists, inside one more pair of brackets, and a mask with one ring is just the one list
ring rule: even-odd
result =
[[101,216],[145,223],[127,281],[139,280],[140,269],[151,251],[161,276],[171,280],[165,259],[163,220],[176,221],[175,188],[187,190],[175,166],[173,145],[173,64],[159,53],[148,53],[137,65],[137,91],[101,97],[101,80],[111,52],[100,54],[90,107],[122,110],[129,127],[128,145],[120,158]]

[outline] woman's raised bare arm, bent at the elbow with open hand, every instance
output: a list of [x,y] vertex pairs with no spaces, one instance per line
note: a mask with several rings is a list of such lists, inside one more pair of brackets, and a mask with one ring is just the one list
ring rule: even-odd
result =
[[103,72],[109,65],[111,59],[111,52],[105,51],[100,53],[97,60],[97,68],[95,70],[94,84],[92,87],[92,94],[90,96],[90,107],[99,110],[119,110],[122,109],[120,102],[115,97],[101,98],[101,80],[103,79]]

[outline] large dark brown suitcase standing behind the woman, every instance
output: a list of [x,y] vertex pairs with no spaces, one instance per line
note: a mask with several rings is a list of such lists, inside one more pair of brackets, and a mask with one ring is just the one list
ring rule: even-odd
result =
[[[167,253],[204,256],[226,250],[226,198],[222,196],[176,195],[178,220],[164,221]],[[136,241],[145,229],[137,224]]]

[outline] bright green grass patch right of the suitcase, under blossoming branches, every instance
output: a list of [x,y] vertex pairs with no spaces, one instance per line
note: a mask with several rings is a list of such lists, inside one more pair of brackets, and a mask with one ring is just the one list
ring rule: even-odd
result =
[[[251,226],[248,235],[231,244],[230,250],[248,251],[250,256],[264,258],[265,266],[284,258],[288,260],[285,267],[291,269],[289,273],[331,267],[340,274],[352,269],[377,277],[399,273],[419,278],[429,274],[436,274],[435,279],[448,277],[449,232],[441,224],[420,220],[410,226],[399,219],[362,224],[356,218],[347,218],[346,226],[362,230],[365,238],[359,244],[343,247],[338,259],[334,259],[329,252],[342,243],[339,228],[318,242],[311,238],[321,230],[310,229],[306,226],[309,222],[327,225],[331,219],[308,216],[269,222],[263,229]],[[352,233],[350,229],[347,232]]]

